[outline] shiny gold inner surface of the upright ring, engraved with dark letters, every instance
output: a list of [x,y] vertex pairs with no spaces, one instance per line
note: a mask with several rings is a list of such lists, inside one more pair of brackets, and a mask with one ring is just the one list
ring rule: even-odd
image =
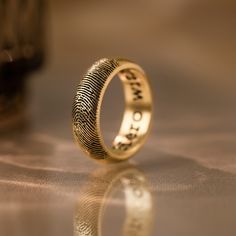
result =
[[118,76],[124,88],[125,111],[119,133],[109,151],[122,158],[133,154],[143,144],[150,125],[152,101],[150,87],[142,71],[123,69]]

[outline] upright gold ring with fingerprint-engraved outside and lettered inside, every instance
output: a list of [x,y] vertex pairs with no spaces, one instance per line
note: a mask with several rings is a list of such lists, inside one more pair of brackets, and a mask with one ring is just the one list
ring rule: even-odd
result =
[[[100,111],[110,81],[118,75],[125,111],[118,135],[108,147],[101,135]],[[124,59],[101,59],[85,74],[73,102],[75,140],[90,157],[104,162],[128,159],[144,144],[152,118],[151,88],[143,69]]]

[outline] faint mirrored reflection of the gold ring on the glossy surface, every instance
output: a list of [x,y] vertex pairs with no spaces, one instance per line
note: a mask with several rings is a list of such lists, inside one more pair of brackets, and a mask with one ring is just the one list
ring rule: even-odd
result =
[[[75,213],[74,236],[100,236],[104,209],[111,193],[124,191],[124,236],[148,236],[152,223],[152,196],[144,175],[134,167],[98,172],[86,183]],[[97,182],[95,181],[97,180]]]

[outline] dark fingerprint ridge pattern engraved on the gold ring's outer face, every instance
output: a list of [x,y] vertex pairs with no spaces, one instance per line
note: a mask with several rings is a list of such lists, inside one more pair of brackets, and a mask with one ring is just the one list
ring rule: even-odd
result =
[[85,74],[77,87],[72,108],[73,133],[81,147],[96,159],[108,155],[98,134],[98,104],[109,75],[119,66],[116,60],[101,59]]

